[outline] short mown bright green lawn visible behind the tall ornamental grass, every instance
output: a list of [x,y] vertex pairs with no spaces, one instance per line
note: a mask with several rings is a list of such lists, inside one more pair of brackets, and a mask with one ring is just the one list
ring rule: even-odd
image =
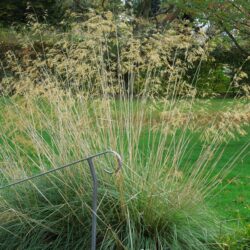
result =
[[[228,107],[232,107],[235,103],[241,101],[231,99],[214,99],[210,102],[209,111],[216,113],[223,111]],[[200,104],[197,102],[194,108],[199,110]],[[2,112],[3,106],[8,105],[8,99],[0,99],[0,126],[4,122],[5,114]],[[13,126],[11,124],[10,126]],[[245,136],[237,136],[237,139],[224,143],[224,153],[218,162],[218,171],[222,169],[230,160],[232,160],[238,152],[250,141],[250,125],[246,128],[248,132]],[[145,132],[146,133],[146,132]],[[147,134],[147,133],[146,133]],[[145,140],[147,136],[145,135]],[[1,143],[1,141],[0,141]],[[200,148],[203,145],[198,135],[192,136],[192,157],[183,158],[183,161],[192,165],[198,158]],[[4,147],[4,145],[1,145]],[[147,153],[147,152],[143,152]],[[245,153],[235,163],[234,168],[228,176],[221,181],[219,188],[214,194],[211,194],[210,204],[221,215],[222,220],[233,223],[248,224],[250,223],[250,152]],[[224,223],[222,221],[222,223]]]

